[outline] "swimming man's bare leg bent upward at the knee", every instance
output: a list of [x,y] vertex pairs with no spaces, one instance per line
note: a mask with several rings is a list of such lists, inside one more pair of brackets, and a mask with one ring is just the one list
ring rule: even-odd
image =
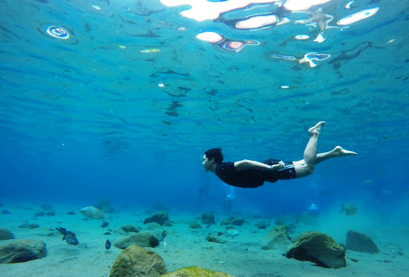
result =
[[321,132],[321,127],[325,125],[324,121],[320,121],[314,127],[311,127],[310,140],[304,150],[304,163],[294,163],[295,174],[297,178],[310,175],[314,172],[315,163],[317,159],[318,136]]

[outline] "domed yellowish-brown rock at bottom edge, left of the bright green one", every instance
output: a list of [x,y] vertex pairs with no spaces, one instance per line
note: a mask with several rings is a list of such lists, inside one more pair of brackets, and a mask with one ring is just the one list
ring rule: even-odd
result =
[[166,266],[158,253],[139,246],[129,246],[116,257],[109,277],[159,277]]

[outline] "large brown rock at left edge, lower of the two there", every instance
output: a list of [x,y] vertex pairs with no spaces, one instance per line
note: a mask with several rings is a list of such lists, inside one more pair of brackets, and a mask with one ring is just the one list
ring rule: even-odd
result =
[[15,240],[0,246],[0,264],[24,263],[46,256],[46,244],[39,240]]

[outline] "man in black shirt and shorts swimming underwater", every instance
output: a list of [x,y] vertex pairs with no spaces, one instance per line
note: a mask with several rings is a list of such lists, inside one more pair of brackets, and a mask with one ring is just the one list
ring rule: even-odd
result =
[[310,140],[304,150],[304,158],[298,161],[282,161],[269,158],[262,163],[243,159],[234,163],[223,163],[220,148],[209,149],[203,156],[203,168],[213,172],[223,182],[240,188],[257,188],[264,182],[276,182],[308,176],[314,172],[315,165],[329,158],[357,155],[352,151],[336,146],[333,150],[317,154],[318,136],[324,121],[311,127]]

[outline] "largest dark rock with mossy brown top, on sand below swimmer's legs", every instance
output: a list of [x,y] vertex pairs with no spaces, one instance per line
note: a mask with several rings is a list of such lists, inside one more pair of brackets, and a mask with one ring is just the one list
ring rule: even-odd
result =
[[320,232],[305,232],[287,247],[287,258],[310,261],[325,268],[346,266],[345,249],[333,238]]

